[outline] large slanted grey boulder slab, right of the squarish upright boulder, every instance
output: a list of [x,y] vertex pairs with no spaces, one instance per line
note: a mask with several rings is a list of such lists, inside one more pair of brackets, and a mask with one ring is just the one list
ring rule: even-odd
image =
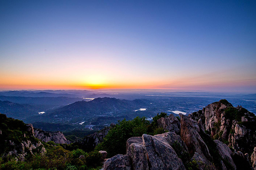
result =
[[148,153],[148,162],[153,170],[184,170],[184,164],[175,150],[164,139],[143,134],[143,145]]

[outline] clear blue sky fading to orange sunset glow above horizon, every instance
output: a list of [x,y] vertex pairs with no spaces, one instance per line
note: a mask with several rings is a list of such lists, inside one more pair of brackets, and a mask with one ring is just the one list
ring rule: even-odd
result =
[[0,0],[0,90],[256,93],[255,0]]

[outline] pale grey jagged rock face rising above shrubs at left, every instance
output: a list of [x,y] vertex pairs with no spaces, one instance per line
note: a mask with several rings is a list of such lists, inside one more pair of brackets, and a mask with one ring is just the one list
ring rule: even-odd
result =
[[34,136],[43,142],[52,141],[56,144],[70,144],[70,141],[66,139],[64,134],[60,131],[50,133],[41,129],[34,128]]

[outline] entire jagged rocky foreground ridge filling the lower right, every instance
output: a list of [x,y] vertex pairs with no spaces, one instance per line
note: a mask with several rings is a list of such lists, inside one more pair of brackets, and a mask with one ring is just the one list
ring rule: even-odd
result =
[[241,106],[220,100],[157,122],[169,132],[128,139],[104,170],[256,170],[256,116]]

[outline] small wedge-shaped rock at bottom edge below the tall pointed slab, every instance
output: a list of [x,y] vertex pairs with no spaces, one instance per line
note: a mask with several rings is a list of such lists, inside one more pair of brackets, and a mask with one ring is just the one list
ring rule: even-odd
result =
[[195,152],[191,160],[196,161],[199,170],[216,170],[214,165],[202,154]]

